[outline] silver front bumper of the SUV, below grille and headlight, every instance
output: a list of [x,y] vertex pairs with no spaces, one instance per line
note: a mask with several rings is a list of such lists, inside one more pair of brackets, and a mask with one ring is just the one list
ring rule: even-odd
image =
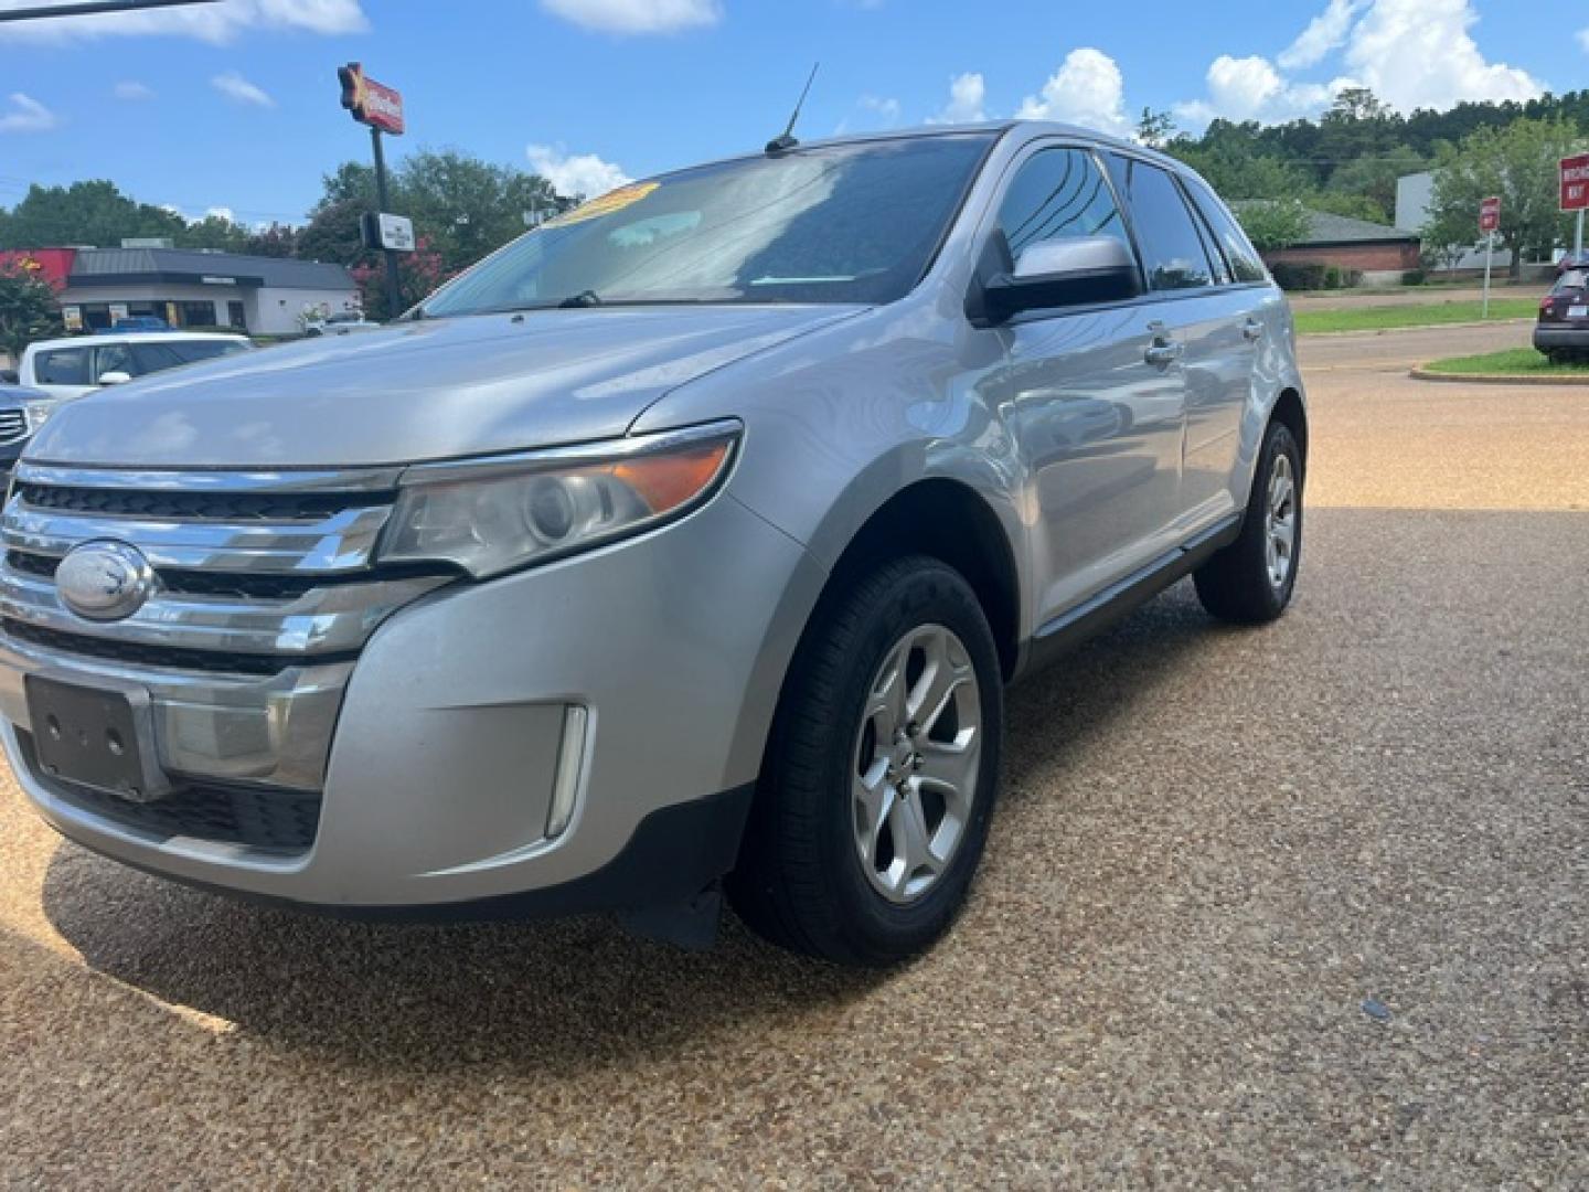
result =
[[[41,774],[19,736],[29,730],[22,675],[48,668],[92,683],[105,664],[0,652],[5,745],[29,798],[62,834],[245,896],[365,912],[623,909],[683,898],[733,861],[745,790],[822,582],[798,544],[720,494],[648,536],[423,596],[391,615],[346,672],[321,675],[340,693],[340,714],[313,844],[302,853],[143,830]],[[302,683],[308,669],[286,674]],[[213,696],[164,699],[162,766],[224,776],[238,758],[265,758],[294,774],[315,771],[313,757],[283,749],[321,747],[294,733],[291,712],[273,715],[272,701],[254,695],[246,706],[245,722]],[[289,695],[275,706],[303,707]],[[574,707],[585,710],[585,733],[570,758]],[[572,819],[548,838],[553,790],[569,766]],[[669,814],[690,804],[701,807]],[[680,836],[696,844],[658,844]]]

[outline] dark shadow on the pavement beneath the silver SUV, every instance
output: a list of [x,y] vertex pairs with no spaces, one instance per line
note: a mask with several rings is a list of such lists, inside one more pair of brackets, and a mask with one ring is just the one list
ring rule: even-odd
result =
[[[1181,588],[1014,688],[1006,819],[1219,633]],[[890,981],[783,954],[733,915],[709,952],[636,939],[602,917],[375,925],[235,903],[67,844],[43,909],[87,965],[160,1001],[273,1047],[415,1073],[644,1062],[758,1024],[842,1022]]]

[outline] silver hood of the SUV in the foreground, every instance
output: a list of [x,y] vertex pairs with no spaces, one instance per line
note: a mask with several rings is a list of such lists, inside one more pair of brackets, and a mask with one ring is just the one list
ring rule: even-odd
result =
[[27,459],[346,467],[604,439],[671,389],[856,310],[550,310],[305,340],[100,389]]

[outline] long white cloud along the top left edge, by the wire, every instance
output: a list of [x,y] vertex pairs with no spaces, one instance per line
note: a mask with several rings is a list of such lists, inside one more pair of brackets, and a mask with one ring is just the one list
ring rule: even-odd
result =
[[[0,10],[37,0],[0,0]],[[224,45],[251,29],[307,33],[362,33],[370,27],[361,0],[226,0],[219,5],[157,8],[146,13],[62,16],[0,25],[11,41],[83,41],[103,37],[192,37]]]

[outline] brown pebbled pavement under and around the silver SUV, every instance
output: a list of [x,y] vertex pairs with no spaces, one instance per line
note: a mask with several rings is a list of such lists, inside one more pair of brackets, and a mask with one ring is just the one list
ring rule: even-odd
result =
[[1589,1187],[1589,391],[1403,378],[1478,339],[1306,343],[1295,609],[1014,691],[904,971],[259,911],[6,782],[0,1182]]

